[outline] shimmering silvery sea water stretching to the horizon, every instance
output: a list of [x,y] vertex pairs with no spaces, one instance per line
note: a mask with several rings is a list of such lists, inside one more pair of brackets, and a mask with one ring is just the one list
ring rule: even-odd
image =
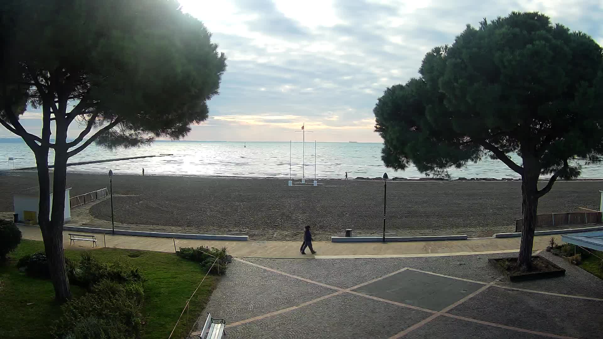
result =
[[[246,145],[246,147],[245,147]],[[306,142],[291,145],[291,175],[301,178],[342,178],[346,171],[349,177],[380,177],[384,172],[390,177],[418,179],[425,177],[415,168],[394,172],[385,168],[380,159],[382,144],[356,142]],[[289,177],[289,142],[223,142],[223,141],[156,141],[153,145],[129,150],[109,151],[90,145],[70,162],[113,159],[119,157],[172,154],[165,157],[150,157],[117,162],[93,163],[71,166],[69,171],[116,174],[140,174],[142,168],[149,175],[175,176],[241,176],[241,177]],[[316,155],[316,156],[315,156]],[[14,164],[8,157],[16,158]],[[52,163],[53,154],[49,156]],[[305,158],[305,166],[302,160]],[[521,163],[517,156],[513,157]],[[314,163],[316,162],[316,166]],[[22,141],[0,142],[0,169],[35,166],[30,149]],[[470,163],[466,168],[451,169],[453,178],[517,178],[516,173],[499,160],[484,159]],[[603,178],[603,165],[588,165],[582,168],[583,178]]]

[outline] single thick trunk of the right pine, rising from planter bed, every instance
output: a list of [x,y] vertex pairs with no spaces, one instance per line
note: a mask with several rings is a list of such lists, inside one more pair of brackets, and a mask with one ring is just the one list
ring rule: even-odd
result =
[[[525,162],[524,169],[526,169]],[[522,241],[519,247],[518,260],[523,270],[530,268],[532,265],[532,246],[534,245],[534,230],[536,229],[538,214],[539,172],[539,169],[526,171],[522,176]]]

